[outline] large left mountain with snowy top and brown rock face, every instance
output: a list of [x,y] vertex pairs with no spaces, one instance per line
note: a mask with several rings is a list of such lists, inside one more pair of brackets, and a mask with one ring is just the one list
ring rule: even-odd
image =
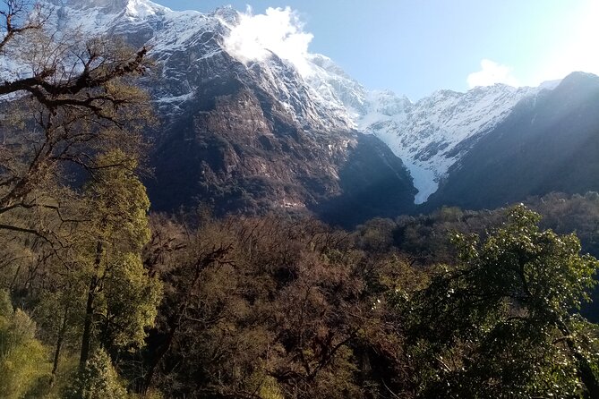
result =
[[355,83],[339,99],[331,81],[341,89],[351,79],[338,78],[340,70],[323,78],[336,68],[326,57],[314,56],[311,78],[276,54],[255,62],[235,58],[225,43],[239,21],[230,7],[203,14],[173,12],[147,0],[55,4],[53,22],[60,30],[119,36],[134,47],[149,46],[158,62],[158,76],[144,81],[162,122],[151,132],[155,173],[147,185],[153,208],[202,201],[218,214],[321,212],[343,199],[354,207],[351,223],[349,211],[329,220],[351,225],[365,220],[363,201],[352,200],[363,195],[355,190],[356,175],[362,182],[385,176],[394,193],[393,202],[368,205],[372,216],[411,207],[414,189],[401,161],[381,141],[365,140],[353,129],[344,101],[362,96],[361,86]]

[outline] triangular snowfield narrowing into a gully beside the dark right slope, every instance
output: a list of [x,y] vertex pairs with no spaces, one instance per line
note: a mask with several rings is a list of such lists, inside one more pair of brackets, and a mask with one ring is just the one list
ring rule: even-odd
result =
[[419,204],[437,191],[449,167],[476,140],[505,120],[520,100],[546,87],[496,84],[466,93],[439,90],[415,104],[388,91],[372,92],[368,111],[357,123],[361,131],[378,136],[404,161],[414,178],[415,203]]

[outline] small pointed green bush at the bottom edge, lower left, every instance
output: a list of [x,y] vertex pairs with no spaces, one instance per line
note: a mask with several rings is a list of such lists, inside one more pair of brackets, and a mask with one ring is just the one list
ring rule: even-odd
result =
[[85,369],[64,393],[66,399],[125,399],[127,392],[110,358],[104,351],[94,352]]

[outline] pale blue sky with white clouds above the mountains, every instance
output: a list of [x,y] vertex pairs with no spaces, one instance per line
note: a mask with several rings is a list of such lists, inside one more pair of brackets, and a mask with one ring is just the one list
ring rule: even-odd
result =
[[232,46],[248,56],[276,47],[301,68],[320,53],[366,88],[412,100],[599,74],[599,0],[154,1],[206,13],[230,4],[244,13]]

